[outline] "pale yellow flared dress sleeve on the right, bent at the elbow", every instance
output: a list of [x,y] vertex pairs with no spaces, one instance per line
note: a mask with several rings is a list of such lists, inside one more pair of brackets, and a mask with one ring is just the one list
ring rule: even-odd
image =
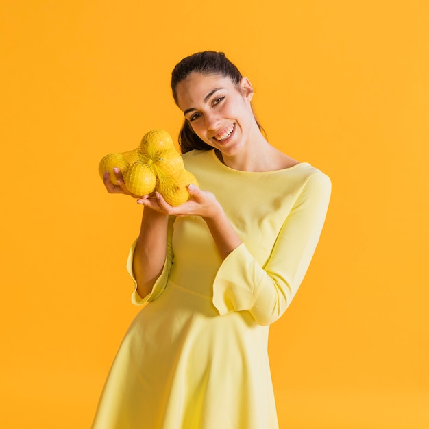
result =
[[282,316],[310,265],[330,193],[327,175],[308,177],[265,266],[258,264],[245,243],[223,260],[213,285],[213,304],[220,315],[247,310],[257,323],[265,326]]

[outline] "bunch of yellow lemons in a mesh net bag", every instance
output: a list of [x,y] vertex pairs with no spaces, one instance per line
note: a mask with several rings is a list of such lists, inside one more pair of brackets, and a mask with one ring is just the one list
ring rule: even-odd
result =
[[121,154],[107,154],[99,164],[99,174],[110,174],[117,184],[114,167],[121,170],[125,187],[138,196],[158,191],[171,206],[180,206],[191,197],[188,185],[197,180],[184,168],[183,160],[164,130],[151,130],[143,136],[140,146]]

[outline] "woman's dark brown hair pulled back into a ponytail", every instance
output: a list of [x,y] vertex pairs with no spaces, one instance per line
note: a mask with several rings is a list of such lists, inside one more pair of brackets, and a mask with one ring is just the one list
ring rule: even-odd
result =
[[[238,86],[241,82],[241,79],[243,79],[240,71],[238,71],[236,66],[234,66],[234,64],[232,64],[228,58],[226,58],[225,53],[215,51],[194,53],[193,55],[188,56],[180,61],[171,73],[171,90],[173,92],[173,98],[176,104],[177,84],[182,82],[182,80],[186,79],[186,77],[188,77],[188,75],[193,72],[201,73],[202,75],[220,75],[222,77],[229,77],[232,80],[232,83],[236,86]],[[255,120],[259,129],[265,133],[260,123],[258,123],[256,117]],[[182,154],[185,154],[186,152],[193,149],[213,149],[212,146],[204,143],[204,141],[201,140],[197,134],[195,134],[191,124],[187,119],[184,120],[182,129],[179,133],[179,145]]]

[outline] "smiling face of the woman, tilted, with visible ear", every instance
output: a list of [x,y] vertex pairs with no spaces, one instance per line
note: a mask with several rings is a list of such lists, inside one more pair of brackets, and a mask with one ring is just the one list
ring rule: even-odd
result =
[[248,79],[243,77],[238,87],[229,77],[191,73],[177,84],[176,93],[180,110],[201,140],[229,156],[245,150],[256,124]]

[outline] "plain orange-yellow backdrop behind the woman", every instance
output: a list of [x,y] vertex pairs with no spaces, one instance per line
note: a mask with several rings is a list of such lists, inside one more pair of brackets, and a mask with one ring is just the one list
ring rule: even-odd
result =
[[1,428],[89,428],[139,310],[142,208],[97,165],[152,128],[176,138],[171,69],[205,49],[252,81],[269,141],[333,183],[271,328],[280,428],[429,427],[427,1],[3,0],[0,20]]

